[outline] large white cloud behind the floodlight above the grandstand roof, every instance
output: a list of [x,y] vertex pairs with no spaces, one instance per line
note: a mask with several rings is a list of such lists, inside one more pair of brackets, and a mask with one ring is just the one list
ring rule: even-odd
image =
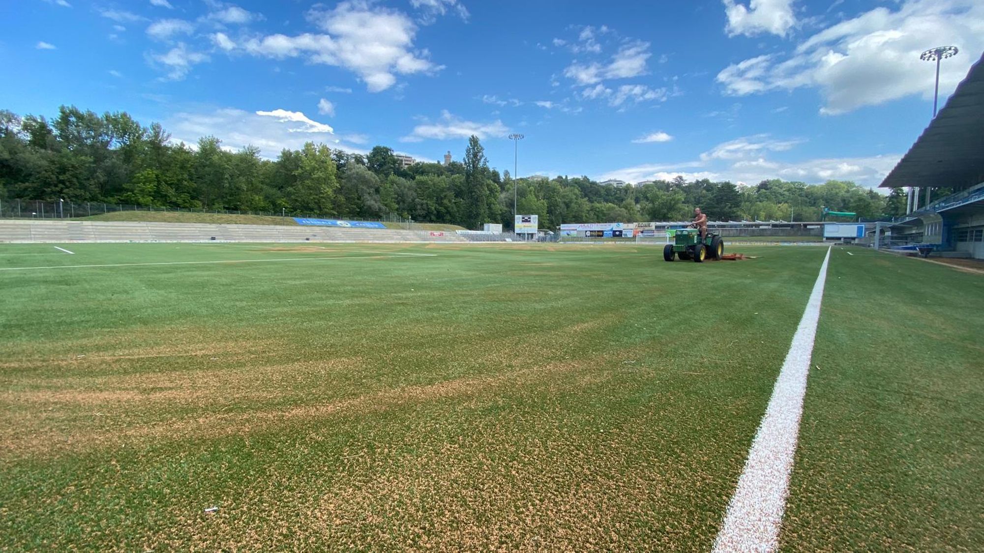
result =
[[941,40],[961,50],[941,67],[946,97],[984,50],[979,0],[908,0],[896,11],[876,8],[817,32],[786,55],[732,64],[717,82],[733,95],[816,88],[824,98],[821,112],[830,115],[908,95],[929,99],[934,68],[919,54]]

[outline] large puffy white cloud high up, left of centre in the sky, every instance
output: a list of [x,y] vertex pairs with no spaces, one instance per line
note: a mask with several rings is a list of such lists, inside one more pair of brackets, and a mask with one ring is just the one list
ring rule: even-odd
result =
[[331,11],[315,8],[308,19],[326,34],[271,34],[245,44],[246,51],[272,58],[306,56],[311,63],[344,67],[369,92],[393,87],[396,74],[433,73],[443,69],[415,51],[417,28],[403,13],[362,1],[341,2]]

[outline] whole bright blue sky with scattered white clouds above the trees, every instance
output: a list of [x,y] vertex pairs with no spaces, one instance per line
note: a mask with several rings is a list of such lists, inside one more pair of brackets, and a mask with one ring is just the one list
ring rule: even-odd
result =
[[[126,110],[175,140],[521,175],[874,186],[984,49],[984,2],[14,0],[0,108]],[[941,104],[942,104],[941,100]]]

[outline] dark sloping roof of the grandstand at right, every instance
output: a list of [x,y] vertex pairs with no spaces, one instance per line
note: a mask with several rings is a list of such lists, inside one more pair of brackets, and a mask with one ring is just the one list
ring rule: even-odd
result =
[[984,55],[880,187],[969,188],[984,181]]

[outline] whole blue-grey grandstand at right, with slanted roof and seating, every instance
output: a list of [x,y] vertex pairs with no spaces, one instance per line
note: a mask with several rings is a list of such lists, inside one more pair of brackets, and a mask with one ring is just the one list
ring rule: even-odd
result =
[[[907,215],[877,223],[875,248],[984,259],[981,145],[984,55],[882,182],[882,188],[908,188],[908,207]],[[941,189],[947,196],[933,198],[931,191]]]

